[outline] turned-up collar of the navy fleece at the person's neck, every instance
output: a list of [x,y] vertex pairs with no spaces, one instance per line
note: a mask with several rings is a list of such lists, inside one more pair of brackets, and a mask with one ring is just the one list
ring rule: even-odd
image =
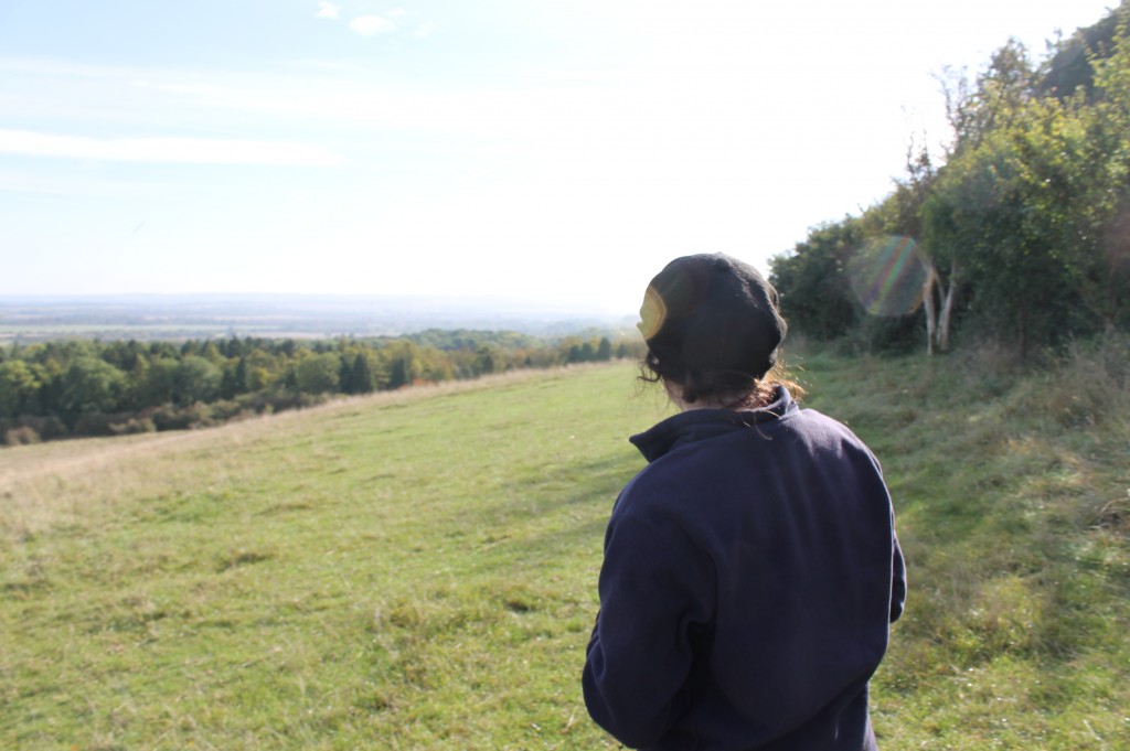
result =
[[669,417],[628,440],[640,449],[644,459],[654,462],[679,446],[721,436],[737,428],[783,420],[800,408],[784,386],[776,387],[776,398],[770,404],[755,410],[702,409],[688,410]]

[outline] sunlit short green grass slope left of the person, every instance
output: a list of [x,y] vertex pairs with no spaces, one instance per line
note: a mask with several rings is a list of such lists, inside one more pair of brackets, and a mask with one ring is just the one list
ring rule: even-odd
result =
[[0,748],[600,748],[631,367],[0,453]]

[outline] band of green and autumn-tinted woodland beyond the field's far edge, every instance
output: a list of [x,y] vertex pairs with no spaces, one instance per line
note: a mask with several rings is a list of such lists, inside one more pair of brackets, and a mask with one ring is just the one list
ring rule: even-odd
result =
[[18,445],[206,427],[334,394],[642,356],[643,341],[431,330],[399,338],[99,342],[0,348],[0,438]]

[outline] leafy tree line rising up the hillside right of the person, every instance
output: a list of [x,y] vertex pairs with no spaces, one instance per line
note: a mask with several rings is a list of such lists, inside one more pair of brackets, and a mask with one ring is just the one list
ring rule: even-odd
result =
[[[790,325],[870,349],[924,341],[931,352],[963,334],[1022,359],[1130,330],[1128,20],[1123,1],[1043,60],[1009,41],[974,78],[950,72],[942,154],[912,143],[883,201],[771,261]],[[894,315],[873,315],[852,283],[884,238],[887,276],[869,283],[894,283],[897,269],[915,287]]]

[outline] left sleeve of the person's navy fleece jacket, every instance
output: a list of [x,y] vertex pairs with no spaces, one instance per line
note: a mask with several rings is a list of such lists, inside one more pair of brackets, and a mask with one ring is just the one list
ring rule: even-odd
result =
[[582,685],[589,714],[625,745],[653,744],[687,706],[690,631],[710,618],[713,566],[671,519],[614,513],[600,613]]

